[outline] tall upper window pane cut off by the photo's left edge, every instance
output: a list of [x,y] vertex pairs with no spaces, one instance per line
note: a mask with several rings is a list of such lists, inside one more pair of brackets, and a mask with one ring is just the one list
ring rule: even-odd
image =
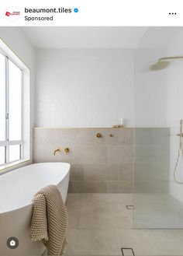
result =
[[0,141],[5,140],[5,56],[0,53]]

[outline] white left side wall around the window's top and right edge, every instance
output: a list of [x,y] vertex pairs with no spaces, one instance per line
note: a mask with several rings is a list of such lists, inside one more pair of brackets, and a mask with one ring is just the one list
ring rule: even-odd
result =
[[33,156],[32,132],[34,126],[34,79],[35,79],[35,50],[19,27],[0,27],[0,38],[12,51],[30,68],[31,89],[31,159]]

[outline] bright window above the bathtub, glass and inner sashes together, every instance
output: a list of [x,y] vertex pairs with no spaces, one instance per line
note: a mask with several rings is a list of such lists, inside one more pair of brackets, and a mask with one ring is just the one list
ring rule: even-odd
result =
[[22,159],[22,73],[0,52],[0,165]]

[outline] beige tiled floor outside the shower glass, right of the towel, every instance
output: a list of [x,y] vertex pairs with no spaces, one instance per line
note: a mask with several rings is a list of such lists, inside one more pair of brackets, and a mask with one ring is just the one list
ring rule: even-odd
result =
[[67,256],[183,255],[183,230],[133,230],[126,205],[131,194],[68,194]]

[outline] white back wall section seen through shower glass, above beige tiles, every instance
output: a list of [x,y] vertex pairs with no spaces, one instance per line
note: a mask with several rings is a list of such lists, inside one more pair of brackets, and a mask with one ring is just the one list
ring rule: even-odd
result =
[[167,55],[165,48],[141,45],[135,59],[135,126],[166,127],[166,70],[152,71],[159,58]]

